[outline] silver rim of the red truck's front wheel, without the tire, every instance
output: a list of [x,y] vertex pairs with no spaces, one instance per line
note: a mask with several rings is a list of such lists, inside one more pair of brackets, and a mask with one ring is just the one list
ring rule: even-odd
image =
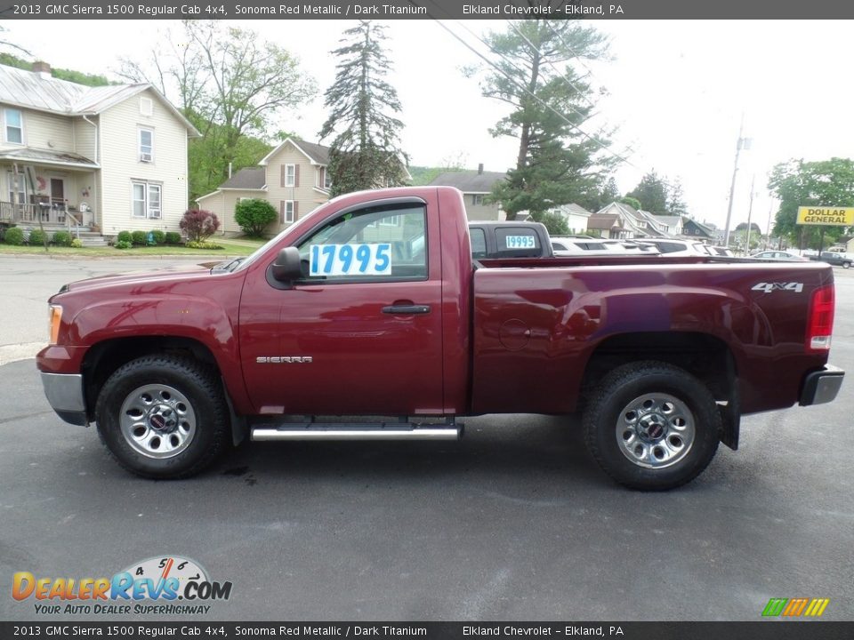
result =
[[119,422],[135,452],[162,460],[184,451],[196,435],[196,412],[187,396],[165,384],[134,389],[125,397]]

